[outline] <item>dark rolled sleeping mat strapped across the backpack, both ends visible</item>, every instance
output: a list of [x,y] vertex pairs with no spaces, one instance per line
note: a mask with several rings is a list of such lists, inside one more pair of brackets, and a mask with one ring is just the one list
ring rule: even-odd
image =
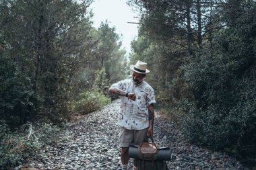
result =
[[[130,144],[128,155],[129,158],[139,159],[138,146]],[[156,161],[170,161],[171,159],[172,150],[170,148],[159,148],[158,157],[156,157]]]

